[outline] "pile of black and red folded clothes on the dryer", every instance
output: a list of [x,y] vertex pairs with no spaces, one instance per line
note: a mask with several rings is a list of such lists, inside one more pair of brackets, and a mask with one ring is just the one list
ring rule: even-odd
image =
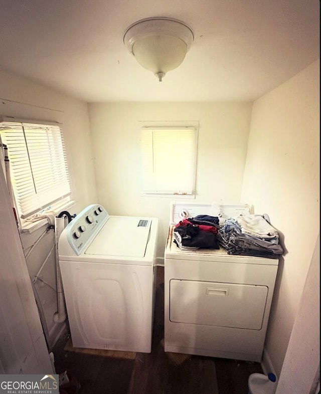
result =
[[220,249],[217,234],[220,229],[219,218],[198,215],[180,221],[174,229],[174,242],[182,250]]

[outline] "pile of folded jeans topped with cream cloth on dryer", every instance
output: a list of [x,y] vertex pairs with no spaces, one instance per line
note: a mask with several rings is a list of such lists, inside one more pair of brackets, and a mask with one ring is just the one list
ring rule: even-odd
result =
[[219,245],[230,255],[279,258],[283,248],[268,215],[238,215],[225,220],[218,233]]

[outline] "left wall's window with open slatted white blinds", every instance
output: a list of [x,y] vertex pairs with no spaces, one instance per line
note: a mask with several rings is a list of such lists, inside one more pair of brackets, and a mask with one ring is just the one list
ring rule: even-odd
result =
[[71,193],[63,133],[57,125],[0,123],[8,147],[16,208],[22,219]]

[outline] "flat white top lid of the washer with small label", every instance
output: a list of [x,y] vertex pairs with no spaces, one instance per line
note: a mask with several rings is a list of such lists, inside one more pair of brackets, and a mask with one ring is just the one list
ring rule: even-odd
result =
[[109,216],[86,255],[144,257],[151,219]]

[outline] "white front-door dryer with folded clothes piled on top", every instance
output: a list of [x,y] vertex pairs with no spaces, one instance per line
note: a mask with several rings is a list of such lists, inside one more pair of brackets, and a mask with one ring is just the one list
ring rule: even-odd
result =
[[261,361],[278,259],[181,250],[175,224],[197,215],[249,214],[247,206],[172,203],[165,249],[165,351]]

